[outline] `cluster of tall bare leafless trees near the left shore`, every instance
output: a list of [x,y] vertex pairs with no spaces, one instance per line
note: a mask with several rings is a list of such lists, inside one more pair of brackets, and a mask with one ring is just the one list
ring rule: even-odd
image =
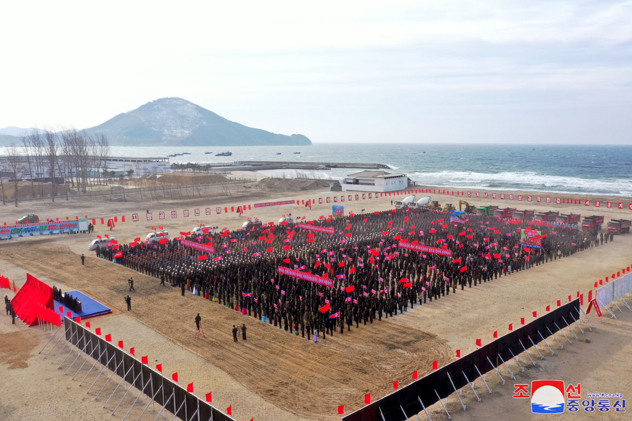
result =
[[[101,178],[107,174],[106,163],[109,156],[107,137],[97,133],[88,135],[85,131],[64,128],[33,129],[21,137],[22,145],[9,145],[2,169],[13,181],[13,197],[18,205],[18,185],[27,178],[30,180],[33,197],[44,197],[49,192],[44,188],[51,183],[51,200],[55,201],[58,180],[69,181],[78,192],[86,193],[88,185],[101,184]],[[50,180],[50,181],[49,181]],[[37,192],[35,183],[37,182]],[[68,186],[66,200],[68,200]],[[4,183],[2,183],[3,204]]]

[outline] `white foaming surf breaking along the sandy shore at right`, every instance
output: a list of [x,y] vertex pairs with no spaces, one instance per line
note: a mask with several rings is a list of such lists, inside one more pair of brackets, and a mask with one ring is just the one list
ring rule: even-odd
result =
[[473,171],[438,171],[408,174],[422,185],[454,188],[489,188],[491,190],[530,190],[533,192],[581,193],[597,195],[632,195],[631,178],[589,180],[571,176],[551,176],[535,172],[477,173]]

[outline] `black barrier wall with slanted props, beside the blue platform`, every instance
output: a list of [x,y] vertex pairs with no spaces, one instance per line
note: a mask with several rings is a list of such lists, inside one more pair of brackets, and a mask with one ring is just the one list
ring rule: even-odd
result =
[[[153,398],[155,403],[164,406],[165,410],[176,414],[181,420],[190,420],[198,411],[195,420],[200,421],[234,421],[230,415],[221,412],[178,383],[167,379],[149,365],[138,361],[133,355],[126,353],[118,346],[92,333],[74,320],[64,317],[66,340],[76,345],[111,371],[133,384],[138,390]],[[177,413],[176,413],[177,412]]]

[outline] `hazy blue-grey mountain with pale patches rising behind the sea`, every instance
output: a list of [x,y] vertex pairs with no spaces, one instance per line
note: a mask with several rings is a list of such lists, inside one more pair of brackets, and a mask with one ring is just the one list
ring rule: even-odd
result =
[[225,119],[181,98],[147,102],[118,114],[88,133],[103,133],[111,145],[250,146],[311,145],[303,135],[279,135]]

